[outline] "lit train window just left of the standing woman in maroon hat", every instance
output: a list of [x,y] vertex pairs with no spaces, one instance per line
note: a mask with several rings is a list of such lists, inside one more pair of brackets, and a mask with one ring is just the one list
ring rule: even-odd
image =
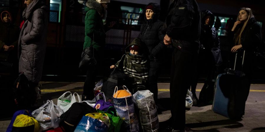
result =
[[140,14],[143,13],[142,8],[129,7],[129,6],[120,6],[122,11],[122,23],[139,25]]

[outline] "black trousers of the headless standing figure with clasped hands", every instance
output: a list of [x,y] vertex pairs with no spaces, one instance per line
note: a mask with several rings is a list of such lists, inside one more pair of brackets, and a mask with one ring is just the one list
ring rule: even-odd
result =
[[170,106],[172,127],[176,130],[185,128],[185,100],[187,90],[196,68],[198,54],[184,53],[177,48],[172,56],[170,77]]

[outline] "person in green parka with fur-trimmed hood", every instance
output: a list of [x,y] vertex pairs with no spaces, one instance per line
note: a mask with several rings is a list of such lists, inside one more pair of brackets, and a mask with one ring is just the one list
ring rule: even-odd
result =
[[[107,5],[110,0],[87,0],[86,16],[85,16],[85,42],[83,48],[94,47],[94,57],[97,61],[95,66],[88,67],[85,79],[82,100],[94,99],[93,88],[95,87],[95,78],[99,74],[98,70],[102,70],[103,48],[105,46],[106,34],[103,20],[107,17]],[[108,27],[112,27],[112,22]]]

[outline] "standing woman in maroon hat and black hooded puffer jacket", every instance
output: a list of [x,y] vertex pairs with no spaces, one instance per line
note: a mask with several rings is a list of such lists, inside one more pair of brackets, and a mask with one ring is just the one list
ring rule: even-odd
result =
[[157,3],[149,3],[145,6],[145,23],[142,24],[140,38],[147,46],[150,60],[150,70],[148,77],[148,87],[150,92],[154,94],[154,100],[157,103],[158,88],[157,78],[158,70],[162,64],[162,50],[165,47],[163,43],[164,35],[160,32],[164,22],[158,20],[160,14],[160,6]]

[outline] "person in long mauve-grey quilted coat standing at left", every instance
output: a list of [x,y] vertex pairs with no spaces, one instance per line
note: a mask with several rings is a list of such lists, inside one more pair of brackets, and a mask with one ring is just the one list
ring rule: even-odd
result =
[[25,22],[18,40],[19,72],[24,72],[30,87],[36,90],[42,77],[49,8],[42,0],[25,0],[24,4],[27,4],[22,13]]

